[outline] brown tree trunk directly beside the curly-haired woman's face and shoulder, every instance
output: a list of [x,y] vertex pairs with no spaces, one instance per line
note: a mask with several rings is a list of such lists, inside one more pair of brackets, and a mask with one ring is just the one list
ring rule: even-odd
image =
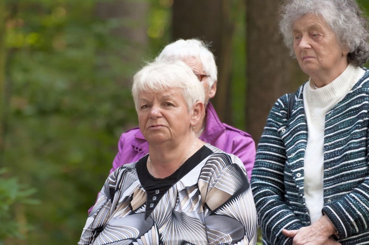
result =
[[246,131],[255,143],[277,98],[307,80],[279,33],[278,5],[276,0],[246,0]]

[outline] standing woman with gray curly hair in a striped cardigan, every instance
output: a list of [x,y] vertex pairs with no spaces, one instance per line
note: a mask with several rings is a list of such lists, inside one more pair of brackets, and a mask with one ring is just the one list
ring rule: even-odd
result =
[[369,244],[367,20],[355,0],[285,0],[280,13],[310,78],[277,100],[257,147],[263,243]]

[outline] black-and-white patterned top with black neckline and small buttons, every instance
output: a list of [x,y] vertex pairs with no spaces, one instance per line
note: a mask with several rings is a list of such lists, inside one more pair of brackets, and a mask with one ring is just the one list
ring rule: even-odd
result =
[[147,158],[109,176],[79,245],[256,244],[255,204],[238,157],[207,144],[164,179],[150,175]]

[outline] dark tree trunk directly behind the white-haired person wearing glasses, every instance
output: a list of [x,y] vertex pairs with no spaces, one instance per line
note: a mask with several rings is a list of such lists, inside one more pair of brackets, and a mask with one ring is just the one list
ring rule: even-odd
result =
[[212,103],[222,122],[232,124],[230,100],[232,37],[234,24],[230,18],[229,0],[173,1],[173,39],[198,38],[211,43],[218,67],[216,95]]

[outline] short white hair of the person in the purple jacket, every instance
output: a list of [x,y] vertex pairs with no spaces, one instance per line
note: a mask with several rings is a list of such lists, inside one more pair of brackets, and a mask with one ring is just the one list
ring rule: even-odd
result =
[[198,58],[202,63],[205,75],[208,75],[209,87],[217,81],[217,70],[214,54],[210,52],[209,45],[197,39],[179,39],[168,44],[156,57],[156,60]]

